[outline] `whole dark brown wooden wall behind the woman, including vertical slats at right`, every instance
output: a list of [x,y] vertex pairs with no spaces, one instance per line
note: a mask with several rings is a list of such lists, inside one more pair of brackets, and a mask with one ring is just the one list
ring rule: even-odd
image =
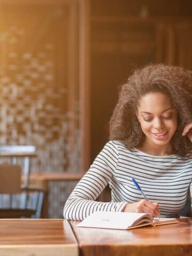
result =
[[191,25],[190,17],[92,15],[91,161],[108,141],[118,87],[134,68],[160,62],[191,68]]

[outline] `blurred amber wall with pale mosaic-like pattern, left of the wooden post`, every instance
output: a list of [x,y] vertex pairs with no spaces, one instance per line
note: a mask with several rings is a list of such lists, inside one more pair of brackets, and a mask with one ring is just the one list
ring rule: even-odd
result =
[[[0,1],[0,143],[35,145],[31,172],[81,172],[82,1]],[[82,84],[83,88],[83,84]],[[84,118],[85,119],[85,118]],[[74,185],[50,183],[51,218]]]

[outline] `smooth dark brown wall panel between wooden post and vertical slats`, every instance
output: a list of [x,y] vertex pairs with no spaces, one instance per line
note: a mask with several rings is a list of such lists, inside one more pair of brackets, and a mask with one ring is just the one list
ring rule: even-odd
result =
[[150,20],[93,17],[91,29],[91,156],[109,137],[118,87],[136,67],[155,62],[156,30]]

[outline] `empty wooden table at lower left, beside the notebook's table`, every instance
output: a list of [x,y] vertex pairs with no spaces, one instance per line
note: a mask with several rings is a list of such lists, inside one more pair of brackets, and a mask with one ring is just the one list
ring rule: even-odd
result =
[[0,219],[0,255],[77,256],[69,222],[61,219]]

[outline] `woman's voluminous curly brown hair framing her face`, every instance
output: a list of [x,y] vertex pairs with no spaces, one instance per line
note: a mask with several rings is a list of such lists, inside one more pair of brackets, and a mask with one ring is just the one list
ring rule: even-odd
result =
[[110,120],[110,140],[122,141],[128,149],[140,146],[145,135],[135,115],[141,97],[150,92],[168,94],[178,112],[178,126],[171,143],[175,154],[185,156],[191,142],[181,133],[192,122],[192,71],[164,64],[137,69],[122,85]]

